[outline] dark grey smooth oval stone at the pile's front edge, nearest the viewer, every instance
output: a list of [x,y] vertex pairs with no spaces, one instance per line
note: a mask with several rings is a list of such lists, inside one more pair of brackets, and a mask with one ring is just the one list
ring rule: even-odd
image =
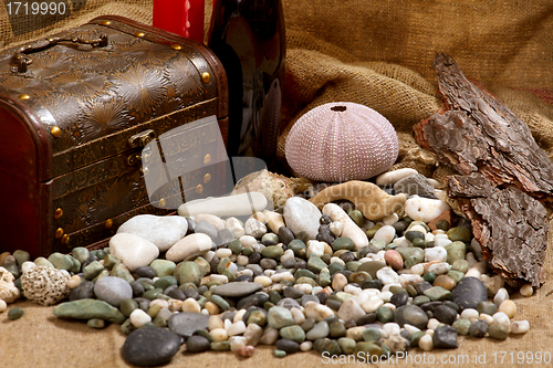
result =
[[132,332],[123,345],[123,357],[139,367],[168,362],[180,349],[182,338],[170,330],[147,327]]

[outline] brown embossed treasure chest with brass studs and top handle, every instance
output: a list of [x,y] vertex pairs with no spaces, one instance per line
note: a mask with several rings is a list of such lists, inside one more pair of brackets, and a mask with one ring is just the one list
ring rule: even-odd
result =
[[229,191],[227,111],[209,49],[125,18],[3,51],[0,251],[70,252]]

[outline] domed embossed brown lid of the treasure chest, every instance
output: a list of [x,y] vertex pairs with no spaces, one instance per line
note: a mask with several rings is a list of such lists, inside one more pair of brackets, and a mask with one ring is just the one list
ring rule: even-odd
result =
[[225,90],[209,49],[121,17],[0,55],[0,96],[28,115],[52,157],[41,180],[135,148],[142,125],[176,111],[190,122],[223,117]]

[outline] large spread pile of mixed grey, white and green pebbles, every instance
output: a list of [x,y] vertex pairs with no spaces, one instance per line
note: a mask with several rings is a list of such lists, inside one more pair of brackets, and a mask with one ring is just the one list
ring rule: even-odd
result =
[[[413,176],[409,170],[377,183],[395,194],[394,183]],[[305,199],[311,194],[295,197],[294,211],[305,206],[305,213],[294,215],[285,206],[284,215],[201,214],[175,231],[152,217],[156,229],[142,218],[129,230],[156,232],[165,245],[118,233],[103,250],[77,248],[34,262],[24,251],[2,253],[0,283],[12,282],[44,305],[69,297],[54,307],[58,317],[85,319],[92,328],[119,324],[128,335],[123,356],[138,366],[167,362],[185,349],[249,357],[259,344],[275,345],[275,357],[315,349],[385,359],[414,347],[456,348],[459,335],[502,340],[529,330],[528,320],[514,319],[509,287],[480,260],[470,221],[447,210],[428,222],[390,215],[374,223],[341,201],[367,235],[368,245],[359,248],[342,236],[342,222],[313,211]],[[438,200],[435,194],[441,196],[438,190],[421,198]],[[291,219],[305,227],[315,221],[316,236]],[[524,285],[520,292],[530,296],[533,290]],[[6,308],[0,299],[0,312]],[[10,319],[22,315],[18,307],[9,312]]]

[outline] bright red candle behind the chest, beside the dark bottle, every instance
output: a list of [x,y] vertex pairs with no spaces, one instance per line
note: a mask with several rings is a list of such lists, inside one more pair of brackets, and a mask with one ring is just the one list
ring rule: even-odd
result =
[[153,25],[204,43],[205,0],[154,0]]

